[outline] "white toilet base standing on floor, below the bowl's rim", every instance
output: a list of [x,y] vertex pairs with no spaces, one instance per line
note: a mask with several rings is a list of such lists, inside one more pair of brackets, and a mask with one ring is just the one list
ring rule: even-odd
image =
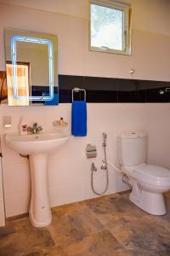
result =
[[143,189],[133,188],[129,200],[144,212],[152,215],[166,214],[166,205],[161,193],[152,193]]

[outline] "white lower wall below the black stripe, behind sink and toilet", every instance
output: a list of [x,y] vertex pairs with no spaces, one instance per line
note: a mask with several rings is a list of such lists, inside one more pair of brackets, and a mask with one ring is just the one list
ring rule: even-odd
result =
[[[60,104],[59,107],[10,108],[1,107],[3,115],[13,111],[13,128],[2,133],[17,131],[20,116],[24,115],[28,125],[37,121],[44,130],[56,129],[54,119],[64,116],[69,122],[66,131],[70,131],[71,104]],[[170,113],[169,104],[88,104],[88,137],[71,137],[59,151],[49,157],[49,195],[52,206],[72,201],[81,201],[94,197],[90,188],[90,166],[92,161],[99,172],[95,177],[95,187],[105,187],[105,172],[100,170],[102,151],[102,132],[108,136],[108,159],[118,166],[116,155],[116,134],[120,131],[146,131],[149,135],[149,163],[170,168]],[[166,125],[165,125],[166,124]],[[2,124],[1,124],[2,127]],[[97,159],[87,160],[85,148],[88,143],[95,144],[98,150]],[[127,187],[110,167],[110,185],[107,193],[122,191]],[[7,216],[27,212],[30,199],[30,172],[26,159],[9,149],[3,141],[3,179]]]

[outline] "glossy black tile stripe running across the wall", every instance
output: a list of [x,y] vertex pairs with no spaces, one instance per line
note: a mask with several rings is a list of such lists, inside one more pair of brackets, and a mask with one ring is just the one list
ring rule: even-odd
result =
[[[170,88],[170,82],[59,75],[60,103],[71,102],[74,87],[87,90],[87,102],[170,102],[170,92],[159,93]],[[75,99],[82,100],[83,94]]]

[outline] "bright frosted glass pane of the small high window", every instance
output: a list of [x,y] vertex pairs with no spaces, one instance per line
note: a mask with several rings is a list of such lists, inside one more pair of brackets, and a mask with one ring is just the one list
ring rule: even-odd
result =
[[91,47],[123,50],[123,11],[91,4]]

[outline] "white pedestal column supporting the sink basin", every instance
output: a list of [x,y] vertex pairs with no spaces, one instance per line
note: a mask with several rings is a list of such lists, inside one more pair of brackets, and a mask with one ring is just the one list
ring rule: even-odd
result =
[[48,200],[48,154],[30,154],[31,205],[29,218],[34,227],[45,227],[52,221]]

